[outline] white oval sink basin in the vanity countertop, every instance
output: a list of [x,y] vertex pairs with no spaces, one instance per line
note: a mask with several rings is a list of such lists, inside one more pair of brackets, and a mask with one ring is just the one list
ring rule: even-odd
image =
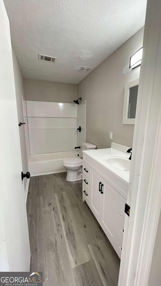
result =
[[119,170],[129,171],[130,170],[130,160],[126,157],[121,156],[105,156],[103,161],[110,166],[117,168]]

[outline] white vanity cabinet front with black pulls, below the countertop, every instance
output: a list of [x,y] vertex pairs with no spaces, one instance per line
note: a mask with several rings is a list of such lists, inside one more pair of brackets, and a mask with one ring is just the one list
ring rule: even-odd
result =
[[83,201],[91,208],[120,258],[127,189],[127,184],[83,154]]

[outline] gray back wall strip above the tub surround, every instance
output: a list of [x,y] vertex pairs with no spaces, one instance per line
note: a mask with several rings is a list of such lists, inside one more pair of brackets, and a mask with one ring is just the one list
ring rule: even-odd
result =
[[72,103],[77,99],[77,85],[24,79],[25,99]]

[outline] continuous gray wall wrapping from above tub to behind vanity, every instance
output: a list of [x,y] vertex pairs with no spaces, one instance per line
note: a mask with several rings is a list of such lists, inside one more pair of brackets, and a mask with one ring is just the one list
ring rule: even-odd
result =
[[[86,100],[86,141],[97,148],[111,142],[131,147],[134,125],[122,124],[125,83],[139,78],[140,67],[122,74],[124,65],[143,42],[144,27],[121,45],[78,85],[24,79],[26,100],[66,102]],[[78,95],[77,95],[78,93]],[[113,140],[109,139],[113,132]]]

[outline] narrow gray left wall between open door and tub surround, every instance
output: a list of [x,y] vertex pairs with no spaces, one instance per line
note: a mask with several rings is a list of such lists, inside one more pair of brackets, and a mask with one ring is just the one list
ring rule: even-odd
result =
[[[14,79],[15,79],[18,122],[24,122],[23,100],[22,100],[22,97],[24,99],[23,76],[22,76],[21,69],[19,67],[16,55],[15,55],[15,52],[13,50],[13,47],[12,47],[12,59],[13,59]],[[23,173],[26,173],[28,172],[28,158],[27,158],[26,140],[25,140],[25,125],[22,125],[21,127],[19,127],[19,139],[20,139],[20,146],[21,146],[22,170],[23,170]],[[25,188],[27,179],[24,178],[23,182],[24,182],[24,188]]]

